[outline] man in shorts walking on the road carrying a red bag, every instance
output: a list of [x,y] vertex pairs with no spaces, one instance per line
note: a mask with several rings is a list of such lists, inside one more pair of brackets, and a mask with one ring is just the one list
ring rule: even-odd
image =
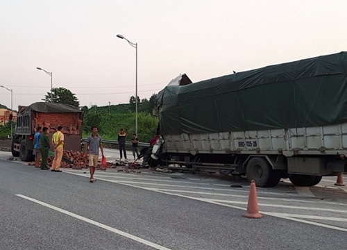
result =
[[88,136],[87,140],[85,141],[85,157],[87,157],[87,153],[89,153],[88,160],[89,160],[89,171],[90,171],[90,182],[92,183],[95,181],[94,179],[94,172],[96,167],[98,166],[98,159],[99,159],[99,147],[101,150],[101,156],[103,156],[103,141],[101,139],[101,136],[98,135],[98,128],[96,126],[92,126],[91,128],[92,134]]

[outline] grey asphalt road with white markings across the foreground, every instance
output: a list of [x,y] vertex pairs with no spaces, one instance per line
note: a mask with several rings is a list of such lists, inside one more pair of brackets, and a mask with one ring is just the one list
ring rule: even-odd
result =
[[89,183],[1,156],[0,249],[347,249],[344,189],[258,189],[263,218],[246,219],[244,181],[108,169]]

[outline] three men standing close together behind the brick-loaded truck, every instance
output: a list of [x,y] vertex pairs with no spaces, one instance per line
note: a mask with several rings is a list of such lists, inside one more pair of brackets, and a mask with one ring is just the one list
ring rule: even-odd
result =
[[[52,172],[62,172],[60,170],[60,163],[62,161],[62,151],[64,147],[64,134],[62,133],[62,126],[58,126],[56,133],[53,134],[51,142],[49,141],[49,128],[38,126],[34,135],[34,153],[35,153],[35,167],[41,167],[41,170],[48,170],[47,158],[49,155],[49,148],[51,145],[54,147],[54,158],[51,167]],[[41,164],[40,164],[41,160]]]

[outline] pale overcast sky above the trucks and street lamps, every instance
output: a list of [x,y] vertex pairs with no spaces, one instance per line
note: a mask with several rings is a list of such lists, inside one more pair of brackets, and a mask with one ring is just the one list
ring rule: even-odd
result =
[[[0,0],[0,85],[13,106],[68,88],[81,106],[347,50],[347,1]],[[10,92],[0,88],[0,103]]]

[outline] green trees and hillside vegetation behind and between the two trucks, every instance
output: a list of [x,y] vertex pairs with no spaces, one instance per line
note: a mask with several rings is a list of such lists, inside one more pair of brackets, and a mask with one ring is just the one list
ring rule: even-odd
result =
[[[149,142],[158,126],[158,118],[155,115],[155,99],[157,94],[152,94],[149,99],[137,97],[137,138],[140,142]],[[65,103],[79,108],[76,94],[65,88],[53,88],[47,92],[43,101],[53,103]],[[117,140],[119,129],[123,128],[127,133],[127,140],[135,133],[135,97],[130,97],[129,103],[109,106],[80,107],[84,112],[83,137],[90,133],[91,126],[97,126],[103,139]]]

